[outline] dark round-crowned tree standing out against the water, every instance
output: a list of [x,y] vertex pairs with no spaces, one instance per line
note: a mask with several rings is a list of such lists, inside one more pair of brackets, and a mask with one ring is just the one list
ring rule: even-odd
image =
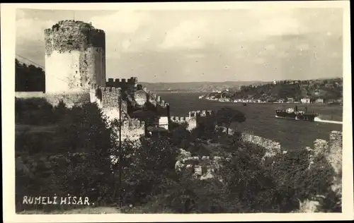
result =
[[232,122],[244,122],[246,116],[239,110],[232,109],[230,107],[223,107],[217,111],[216,122],[218,126],[224,126],[229,131],[229,126]]

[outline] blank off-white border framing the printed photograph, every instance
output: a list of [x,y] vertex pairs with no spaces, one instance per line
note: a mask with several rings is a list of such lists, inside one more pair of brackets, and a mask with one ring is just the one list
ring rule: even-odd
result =
[[[220,10],[232,8],[282,7],[343,8],[343,213],[341,214],[202,214],[202,215],[16,215],[14,159],[14,66],[16,8],[69,10]],[[351,118],[349,1],[276,1],[276,2],[190,2],[190,3],[91,3],[91,4],[1,4],[1,101],[3,139],[3,208],[4,222],[210,222],[265,220],[354,219],[353,214],[353,140]]]

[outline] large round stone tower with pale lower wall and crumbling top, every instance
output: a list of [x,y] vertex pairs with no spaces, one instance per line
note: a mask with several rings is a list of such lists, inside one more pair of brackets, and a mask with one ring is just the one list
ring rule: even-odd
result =
[[105,87],[105,32],[63,20],[45,30],[45,92],[83,92]]

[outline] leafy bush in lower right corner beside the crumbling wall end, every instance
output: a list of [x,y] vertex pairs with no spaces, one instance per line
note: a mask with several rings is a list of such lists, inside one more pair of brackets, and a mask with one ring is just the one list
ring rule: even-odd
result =
[[[290,150],[286,154],[273,157],[273,163],[268,163],[268,176],[276,182],[282,210],[296,210],[299,202],[316,199],[317,195],[331,195],[333,168],[323,156],[314,157],[309,168],[310,152],[305,149]],[[333,201],[330,202],[329,200]],[[324,210],[338,210],[338,198],[331,196],[325,199]]]

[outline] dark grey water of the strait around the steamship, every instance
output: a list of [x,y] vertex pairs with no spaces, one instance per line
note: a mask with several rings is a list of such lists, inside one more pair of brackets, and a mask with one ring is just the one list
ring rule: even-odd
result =
[[[312,147],[316,138],[329,140],[331,131],[342,131],[341,124],[275,118],[275,109],[293,107],[293,104],[248,104],[245,107],[241,103],[200,100],[198,99],[200,93],[159,93],[159,95],[169,102],[171,116],[188,116],[188,111],[217,110],[224,106],[243,111],[246,114],[246,121],[237,125],[240,131],[276,140],[287,150],[304,146]],[[297,107],[304,109],[302,104],[298,104]],[[318,113],[320,119],[342,121],[343,107],[341,106],[310,104],[307,107],[308,111]]]

